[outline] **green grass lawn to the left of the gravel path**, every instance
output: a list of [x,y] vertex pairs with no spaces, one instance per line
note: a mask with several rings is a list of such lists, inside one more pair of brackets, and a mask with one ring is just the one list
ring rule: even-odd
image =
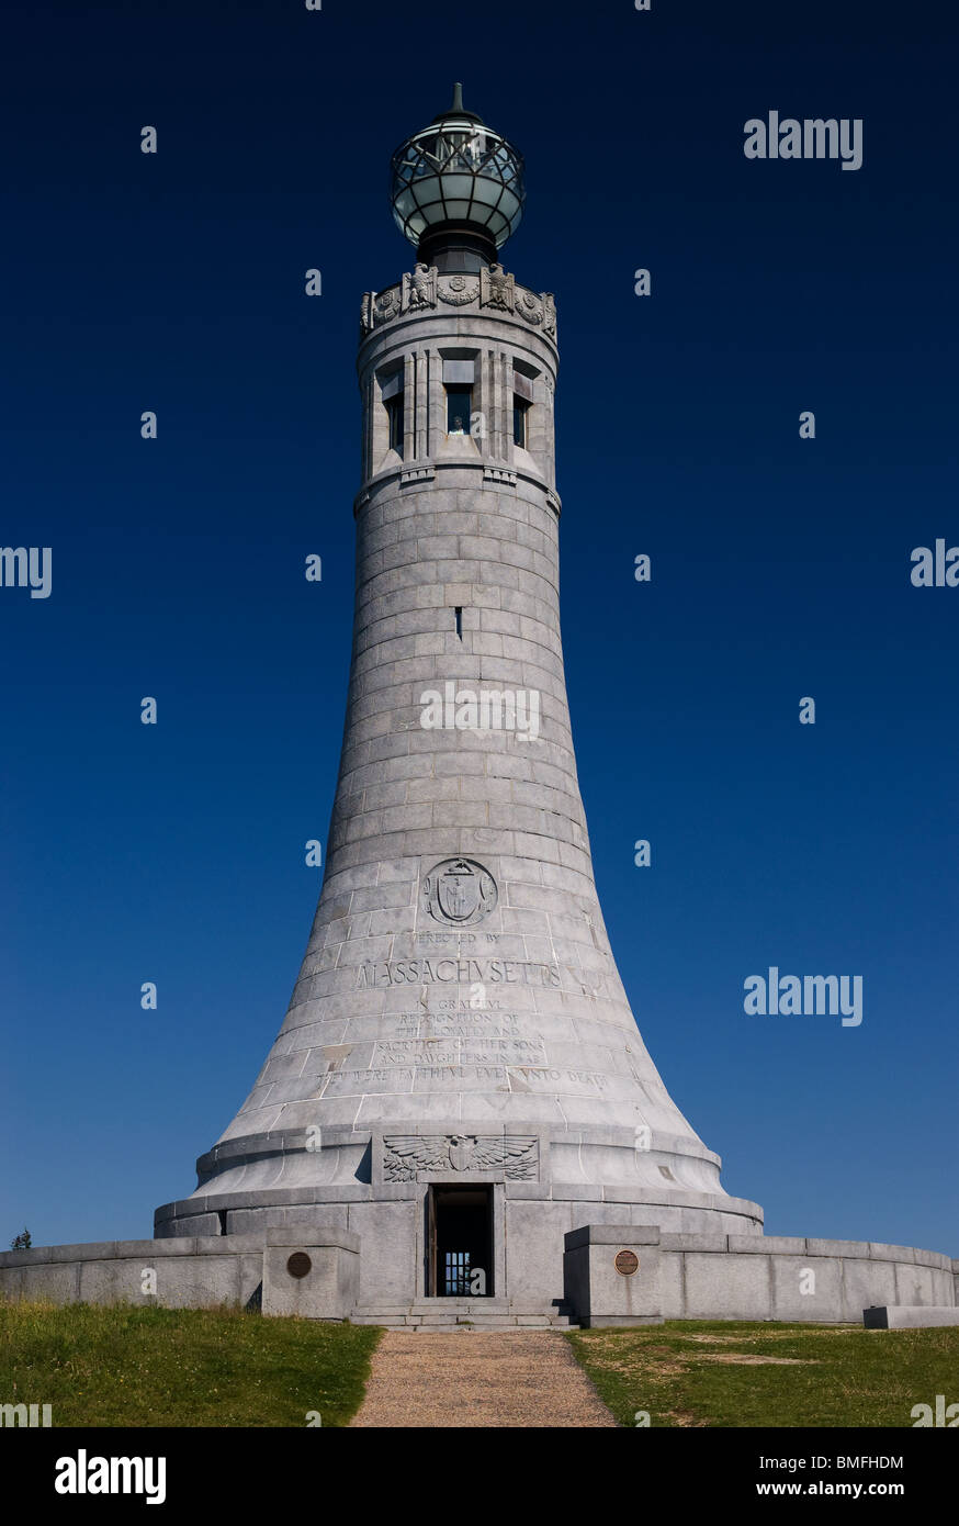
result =
[[346,1425],[381,1331],[241,1309],[0,1303],[0,1402],[53,1425]]

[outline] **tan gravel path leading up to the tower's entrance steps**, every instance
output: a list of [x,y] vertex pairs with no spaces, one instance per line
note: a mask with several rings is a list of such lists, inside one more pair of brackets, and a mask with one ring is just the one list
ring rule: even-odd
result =
[[354,1425],[608,1425],[553,1331],[386,1331]]

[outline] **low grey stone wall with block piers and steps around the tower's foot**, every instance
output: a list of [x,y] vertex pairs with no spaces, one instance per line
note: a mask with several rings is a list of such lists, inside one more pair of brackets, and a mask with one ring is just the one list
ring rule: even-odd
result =
[[[374,1244],[377,1262],[389,1260],[381,1235]],[[570,1277],[576,1259],[579,1270]],[[555,1289],[508,1299],[425,1299],[418,1291],[370,1297],[364,1270],[361,1235],[300,1222],[250,1235],[5,1251],[0,1297],[166,1308],[232,1303],[262,1308],[264,1314],[404,1328],[460,1320],[477,1328],[488,1320],[496,1322],[489,1328],[503,1328],[499,1322],[563,1328],[567,1320],[628,1325],[660,1318],[860,1323],[874,1308],[887,1311],[890,1328],[900,1311],[903,1320],[921,1318],[924,1311],[935,1323],[945,1322],[944,1311],[945,1317],[954,1311],[959,1320],[959,1260],[868,1241],[660,1235],[649,1225],[585,1224],[567,1231],[566,1251],[555,1257]]]

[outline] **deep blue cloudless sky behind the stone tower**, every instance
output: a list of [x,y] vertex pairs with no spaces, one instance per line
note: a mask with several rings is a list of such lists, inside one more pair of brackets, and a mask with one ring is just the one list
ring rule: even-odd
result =
[[[770,1233],[959,1254],[959,589],[909,581],[959,543],[957,23],[653,6],[8,9],[0,542],[50,545],[53,592],[0,591],[0,1244],[151,1233],[282,1021],[360,296],[410,267],[390,151],[462,79],[526,156],[505,262],[556,293],[566,664],[645,1039]],[[747,162],[770,108],[863,118],[863,169]],[[861,974],[861,1027],[747,1018],[768,964]]]

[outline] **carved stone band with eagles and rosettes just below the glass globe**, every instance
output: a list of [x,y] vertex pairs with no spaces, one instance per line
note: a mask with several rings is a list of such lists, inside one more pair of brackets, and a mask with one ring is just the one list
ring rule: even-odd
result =
[[520,317],[556,340],[556,302],[552,291],[531,291],[517,285],[502,266],[480,270],[479,276],[441,275],[436,266],[418,264],[403,279],[383,291],[366,291],[360,310],[361,337],[410,313],[442,313],[444,308],[489,308]]

